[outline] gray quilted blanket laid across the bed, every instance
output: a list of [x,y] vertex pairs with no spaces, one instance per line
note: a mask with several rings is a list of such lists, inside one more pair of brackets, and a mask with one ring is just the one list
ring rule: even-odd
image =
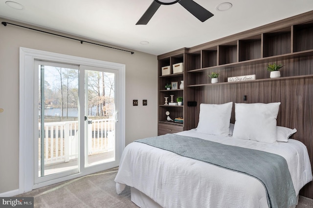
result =
[[252,176],[264,185],[270,208],[289,208],[296,204],[288,165],[285,158],[280,155],[177,134],[166,134],[135,142]]

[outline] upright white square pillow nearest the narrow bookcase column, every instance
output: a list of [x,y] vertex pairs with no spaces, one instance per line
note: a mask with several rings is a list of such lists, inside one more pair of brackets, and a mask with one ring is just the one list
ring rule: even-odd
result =
[[203,134],[228,136],[233,102],[226,104],[200,104],[197,131]]

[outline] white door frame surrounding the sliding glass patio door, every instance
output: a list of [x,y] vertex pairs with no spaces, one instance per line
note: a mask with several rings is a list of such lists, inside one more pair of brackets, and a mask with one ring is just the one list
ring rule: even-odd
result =
[[119,113],[118,143],[116,144],[115,162],[103,166],[94,166],[92,169],[83,169],[80,173],[54,179],[42,183],[35,188],[44,187],[69,179],[88,175],[97,171],[108,169],[119,165],[121,154],[125,147],[125,64],[93,60],[88,58],[70,56],[65,54],[41,51],[31,48],[20,47],[20,123],[19,123],[19,193],[33,189],[34,185],[34,61],[44,60],[52,62],[64,62],[78,65],[89,65],[101,68],[118,70],[119,79]]

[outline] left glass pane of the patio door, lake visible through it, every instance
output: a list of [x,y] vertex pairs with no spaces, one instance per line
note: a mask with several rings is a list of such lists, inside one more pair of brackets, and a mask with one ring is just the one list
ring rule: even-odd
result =
[[77,169],[78,70],[39,65],[39,177]]

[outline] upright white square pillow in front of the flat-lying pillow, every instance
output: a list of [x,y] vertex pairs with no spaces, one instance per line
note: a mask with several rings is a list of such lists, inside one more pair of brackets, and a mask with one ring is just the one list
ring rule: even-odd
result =
[[233,138],[274,143],[280,103],[235,104]]

